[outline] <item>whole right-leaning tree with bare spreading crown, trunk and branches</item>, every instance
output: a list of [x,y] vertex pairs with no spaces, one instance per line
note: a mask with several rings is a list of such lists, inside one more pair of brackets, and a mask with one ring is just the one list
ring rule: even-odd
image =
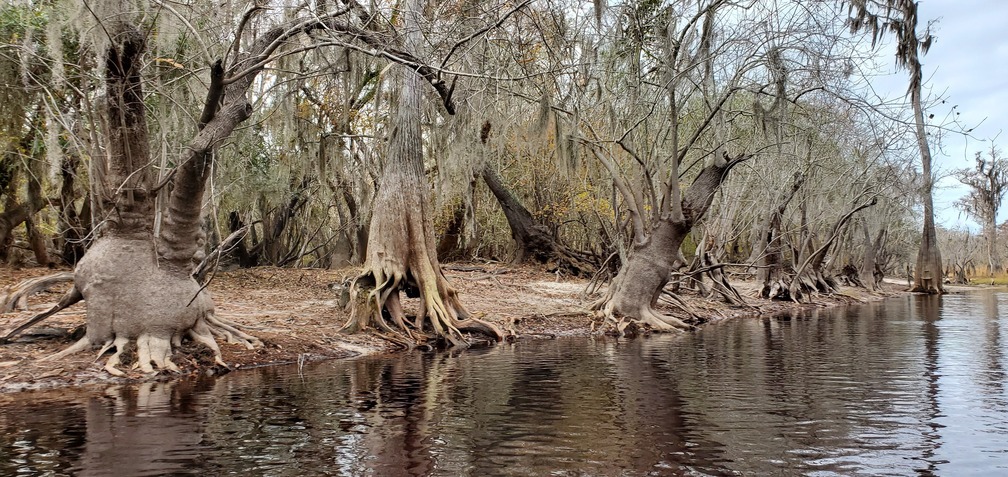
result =
[[744,122],[738,108],[747,92],[772,87],[756,80],[768,76],[761,74],[764,56],[798,49],[808,36],[776,29],[774,18],[805,15],[794,4],[779,7],[711,0],[618,10],[626,20],[617,23],[613,44],[622,54],[604,65],[619,73],[603,83],[629,94],[600,114],[583,113],[588,132],[581,138],[610,172],[632,230],[623,266],[595,304],[618,328],[689,328],[655,306],[682,265],[683,240],[728,173],[751,157],[741,152],[750,144],[733,122]]

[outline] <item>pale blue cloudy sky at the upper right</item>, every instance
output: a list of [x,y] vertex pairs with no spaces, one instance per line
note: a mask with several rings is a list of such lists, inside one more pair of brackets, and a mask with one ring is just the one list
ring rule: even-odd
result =
[[[920,0],[918,31],[927,21],[935,40],[921,57],[924,93],[940,96],[926,114],[935,119],[947,117],[953,106],[959,122],[974,128],[970,137],[946,134],[941,147],[931,144],[933,165],[939,174],[934,193],[935,221],[946,228],[980,227],[956,209],[954,203],[966,195],[966,187],[952,170],[974,166],[977,151],[987,151],[994,144],[1008,154],[1008,1],[1006,0]],[[892,75],[873,80],[879,94],[900,98],[906,92],[906,72],[897,71],[891,45],[880,51],[888,55],[882,65]],[[955,114],[955,113],[953,113]],[[1008,198],[1006,198],[1008,203]],[[1008,220],[1008,204],[1002,207],[998,222]]]

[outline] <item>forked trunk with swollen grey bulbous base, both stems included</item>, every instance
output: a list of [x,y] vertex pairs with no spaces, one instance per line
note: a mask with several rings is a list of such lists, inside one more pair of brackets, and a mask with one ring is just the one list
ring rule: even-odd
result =
[[[90,347],[99,354],[115,348],[105,368],[113,374],[120,357],[136,344],[136,365],[145,372],[177,370],[171,362],[172,347],[182,337],[204,344],[224,364],[215,336],[251,348],[259,344],[237,325],[214,316],[209,291],[193,278],[197,254],[202,251],[203,193],[210,173],[212,150],[235,126],[248,118],[245,92],[261,69],[240,75],[223,88],[221,64],[212,71],[200,133],[179,159],[170,188],[156,187],[150,169],[148,135],[140,65],[144,36],[134,25],[110,22],[111,34],[105,51],[107,88],[106,164],[97,170],[101,214],[105,217],[101,236],[78,263],[74,288],[56,307],[66,308],[84,300],[88,308],[87,331],[78,343],[51,358]],[[270,30],[252,46],[262,51],[282,30]],[[261,61],[254,54],[236,59],[233,72],[246,72]],[[222,101],[223,100],[223,101]],[[162,185],[164,186],[164,185]],[[154,200],[169,194],[168,213],[161,234],[154,236]],[[54,313],[56,308],[46,312]]]

